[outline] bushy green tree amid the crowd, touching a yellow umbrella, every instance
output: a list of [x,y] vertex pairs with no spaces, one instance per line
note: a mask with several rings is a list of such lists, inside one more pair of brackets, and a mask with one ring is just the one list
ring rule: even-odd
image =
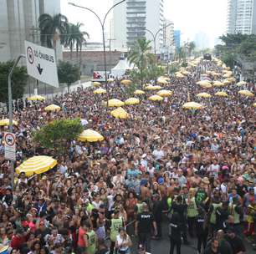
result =
[[33,140],[44,148],[64,153],[67,142],[74,140],[83,131],[80,119],[62,119],[44,125],[33,133]]

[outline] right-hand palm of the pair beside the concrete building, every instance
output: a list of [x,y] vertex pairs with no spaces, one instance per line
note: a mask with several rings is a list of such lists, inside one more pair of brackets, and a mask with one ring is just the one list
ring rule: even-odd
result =
[[68,23],[67,27],[67,35],[64,38],[64,47],[69,47],[70,49],[70,59],[72,59],[72,52],[73,48],[76,48],[76,57],[78,60],[78,53],[79,53],[79,64],[81,64],[81,51],[82,51],[82,46],[85,43],[86,44],[86,39],[84,36],[89,38],[89,33],[82,32],[80,28],[84,26],[83,23]]

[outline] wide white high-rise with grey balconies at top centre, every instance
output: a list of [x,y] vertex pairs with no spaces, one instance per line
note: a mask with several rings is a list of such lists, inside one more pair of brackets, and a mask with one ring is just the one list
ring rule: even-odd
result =
[[[114,4],[119,0],[114,0]],[[126,0],[114,8],[114,46],[130,48],[136,40],[146,37],[153,40],[151,33],[163,28],[163,0]],[[149,32],[151,31],[151,32]],[[151,45],[153,48],[153,44]],[[163,31],[156,38],[156,52],[163,46]]]

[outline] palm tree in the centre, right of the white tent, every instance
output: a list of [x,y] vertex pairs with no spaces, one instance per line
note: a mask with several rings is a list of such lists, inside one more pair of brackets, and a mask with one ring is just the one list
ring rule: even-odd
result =
[[139,38],[134,47],[131,48],[131,52],[128,54],[128,59],[131,63],[140,70],[141,86],[143,85],[144,78],[146,76],[146,69],[149,63],[152,62],[151,41],[146,38]]

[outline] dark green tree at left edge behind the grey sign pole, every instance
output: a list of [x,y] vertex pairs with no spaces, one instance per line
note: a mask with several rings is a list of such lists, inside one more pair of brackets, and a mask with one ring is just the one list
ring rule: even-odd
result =
[[[8,102],[8,74],[12,69],[13,64],[13,61],[0,63],[0,101],[3,103]],[[27,69],[23,66],[15,67],[12,77],[13,99],[20,99],[23,97],[27,81]]]

